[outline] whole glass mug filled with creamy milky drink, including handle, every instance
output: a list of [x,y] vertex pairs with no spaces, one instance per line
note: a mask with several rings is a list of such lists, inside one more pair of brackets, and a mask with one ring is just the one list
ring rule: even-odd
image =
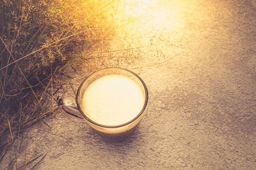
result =
[[105,139],[122,141],[140,123],[147,102],[147,87],[137,74],[110,67],[90,74],[77,90],[76,99],[64,97],[59,106],[78,117],[82,115]]

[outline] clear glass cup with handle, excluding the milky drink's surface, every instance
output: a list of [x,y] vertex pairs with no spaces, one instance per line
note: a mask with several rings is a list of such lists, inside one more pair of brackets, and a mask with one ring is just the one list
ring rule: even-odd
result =
[[[129,122],[125,122],[124,124],[120,125],[103,125],[99,124],[98,122],[94,122],[91,118],[86,115],[86,111],[84,111],[81,107],[81,101],[83,99],[84,92],[86,88],[93,83],[93,81],[99,79],[102,76],[107,76],[111,74],[117,74],[122,76],[127,76],[131,80],[133,80],[138,87],[140,87],[141,92],[143,92],[144,97],[144,105],[141,108],[140,113],[136,115],[136,117],[132,118]],[[131,134],[134,129],[136,129],[137,125],[140,123],[141,118],[145,113],[145,108],[148,102],[148,90],[141,78],[129,71],[127,69],[118,68],[118,67],[110,67],[106,69],[102,69],[100,71],[96,71],[95,73],[90,74],[80,85],[79,89],[77,90],[76,98],[71,97],[64,97],[60,100],[59,105],[62,106],[63,110],[71,113],[72,115],[82,115],[84,120],[92,129],[94,129],[100,136],[110,140],[110,141],[121,141],[125,139],[129,134]]]

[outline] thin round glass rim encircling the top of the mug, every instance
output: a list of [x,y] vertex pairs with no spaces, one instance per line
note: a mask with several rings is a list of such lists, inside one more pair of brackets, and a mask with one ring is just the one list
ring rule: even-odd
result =
[[[126,123],[124,123],[124,124],[120,124],[120,125],[102,125],[102,124],[98,124],[97,122],[94,122],[94,121],[91,120],[90,118],[86,117],[86,115],[85,115],[85,114],[83,113],[83,111],[81,110],[80,104],[79,104],[79,102],[78,102],[78,96],[79,96],[79,94],[80,94],[80,91],[81,91],[81,88],[83,87],[84,82],[85,82],[86,80],[88,80],[88,78],[90,78],[93,74],[98,73],[99,71],[104,71],[104,70],[106,70],[106,69],[122,69],[122,70],[124,70],[124,71],[127,71],[127,72],[133,74],[134,76],[136,76],[136,78],[138,78],[138,79],[140,80],[140,82],[142,83],[142,85],[143,85],[143,87],[144,87],[144,90],[145,90],[145,103],[144,103],[143,108],[141,109],[140,113],[138,113],[138,115],[137,115],[136,117],[132,118],[132,120],[130,120],[129,122],[126,122]],[[146,87],[144,81],[143,81],[143,80],[140,78],[140,76],[138,76],[136,73],[133,73],[132,71],[130,71],[130,70],[128,70],[128,69],[121,68],[121,67],[108,67],[108,68],[100,69],[100,70],[98,70],[98,71],[93,72],[92,74],[90,74],[89,76],[87,76],[87,77],[83,80],[83,82],[81,83],[79,89],[77,90],[76,103],[77,103],[77,108],[78,108],[79,112],[81,113],[81,115],[82,115],[86,120],[88,120],[89,122],[91,122],[92,124],[97,125],[97,126],[99,126],[99,127],[107,127],[107,128],[123,127],[123,126],[125,126],[125,125],[131,124],[132,122],[134,122],[135,120],[137,120],[137,118],[139,118],[139,117],[142,115],[142,113],[143,113],[143,111],[145,110],[145,108],[146,108],[146,106],[147,106],[147,103],[148,103],[148,90],[147,90],[147,87]]]

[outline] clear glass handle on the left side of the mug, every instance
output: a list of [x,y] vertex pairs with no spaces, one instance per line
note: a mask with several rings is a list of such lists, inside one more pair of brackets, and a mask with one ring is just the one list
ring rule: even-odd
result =
[[82,118],[81,113],[77,109],[76,99],[73,97],[63,97],[58,101],[58,106],[60,106],[68,114]]

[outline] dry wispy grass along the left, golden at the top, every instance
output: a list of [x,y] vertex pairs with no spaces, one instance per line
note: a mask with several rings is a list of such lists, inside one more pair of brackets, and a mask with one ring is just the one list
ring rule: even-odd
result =
[[20,132],[56,109],[43,107],[45,92],[51,89],[53,103],[52,80],[77,60],[70,56],[113,34],[115,3],[0,2],[0,162]]

